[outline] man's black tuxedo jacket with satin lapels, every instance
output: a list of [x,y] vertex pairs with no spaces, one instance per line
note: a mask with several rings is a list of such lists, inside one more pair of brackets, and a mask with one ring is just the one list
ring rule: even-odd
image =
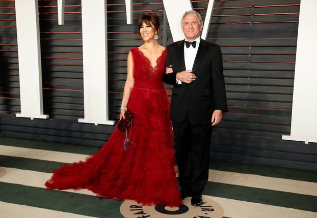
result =
[[172,65],[173,73],[163,73],[163,81],[174,85],[171,120],[182,122],[187,117],[192,124],[210,123],[215,109],[228,111],[220,46],[200,39],[194,61],[196,80],[176,84],[176,73],[186,70],[184,40],[167,47],[165,67]]

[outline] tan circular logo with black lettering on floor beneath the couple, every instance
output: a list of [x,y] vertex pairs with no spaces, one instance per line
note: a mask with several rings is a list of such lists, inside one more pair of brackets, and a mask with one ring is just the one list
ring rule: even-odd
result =
[[168,207],[164,205],[143,206],[135,201],[126,200],[120,206],[120,212],[125,218],[222,218],[224,210],[219,203],[210,196],[202,196],[201,206],[192,206],[191,198],[183,200],[180,207]]

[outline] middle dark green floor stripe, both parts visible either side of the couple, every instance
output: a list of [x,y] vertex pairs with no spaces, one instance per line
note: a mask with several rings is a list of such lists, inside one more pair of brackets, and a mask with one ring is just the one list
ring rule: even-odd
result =
[[[51,173],[53,169],[60,167],[60,163],[58,162],[40,161],[34,159],[0,156],[0,160],[0,166],[3,167],[12,167],[38,172]],[[317,207],[315,207],[315,205],[317,205],[316,196],[258,189],[218,182],[208,182],[205,187],[204,194],[317,212]]]

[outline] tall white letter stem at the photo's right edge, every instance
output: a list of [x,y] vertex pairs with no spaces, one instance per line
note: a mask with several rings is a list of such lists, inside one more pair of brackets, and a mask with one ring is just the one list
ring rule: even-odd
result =
[[317,142],[316,0],[301,1],[296,49],[292,123],[282,139]]

